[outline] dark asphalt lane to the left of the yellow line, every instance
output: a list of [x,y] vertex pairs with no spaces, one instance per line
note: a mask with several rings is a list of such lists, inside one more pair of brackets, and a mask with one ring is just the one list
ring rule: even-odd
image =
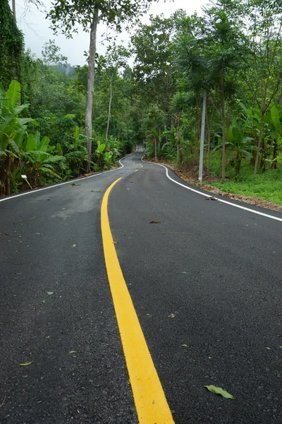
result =
[[0,203],[0,423],[137,423],[100,230],[123,163]]

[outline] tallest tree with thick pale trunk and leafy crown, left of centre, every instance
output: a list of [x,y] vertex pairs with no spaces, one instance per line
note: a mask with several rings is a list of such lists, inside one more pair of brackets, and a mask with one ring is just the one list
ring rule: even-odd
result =
[[[88,138],[87,151],[92,148],[92,100],[94,86],[94,67],[97,43],[97,26],[105,22],[110,28],[120,32],[121,25],[145,13],[154,0],[54,0],[49,11],[51,27],[56,32],[62,30],[67,37],[78,32],[75,25],[82,25],[90,32],[90,50],[88,57],[88,77],[85,104],[85,135]],[[90,165],[89,165],[90,166]],[[90,170],[88,166],[88,170]]]

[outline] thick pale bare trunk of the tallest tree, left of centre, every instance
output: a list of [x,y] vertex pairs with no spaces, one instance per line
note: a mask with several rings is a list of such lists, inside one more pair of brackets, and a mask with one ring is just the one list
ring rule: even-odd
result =
[[[87,153],[89,156],[91,155],[92,151],[92,100],[94,91],[94,69],[98,19],[99,8],[94,8],[94,16],[90,28],[90,49],[88,59],[87,90],[85,104],[85,136],[88,137],[88,140],[85,143],[85,147],[87,148]],[[86,171],[90,172],[90,163],[87,163]]]

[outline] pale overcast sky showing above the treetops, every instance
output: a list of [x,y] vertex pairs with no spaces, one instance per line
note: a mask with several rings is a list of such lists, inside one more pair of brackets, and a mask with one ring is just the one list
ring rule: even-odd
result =
[[[0,0],[1,1],[1,0]],[[11,4],[11,0],[10,4]],[[49,10],[52,0],[43,0],[44,6]],[[173,2],[153,3],[149,13],[158,15],[164,13],[165,17],[170,16],[177,9],[182,8],[188,15],[197,11],[201,13],[202,6],[207,6],[208,0],[174,0]],[[149,22],[149,13],[142,18],[143,23]],[[71,40],[66,39],[65,35],[54,35],[49,28],[49,20],[45,19],[46,13],[41,13],[34,5],[29,5],[29,10],[26,10],[26,0],[16,0],[16,15],[18,27],[23,30],[25,35],[25,48],[30,48],[32,53],[37,57],[41,57],[42,46],[50,39],[55,40],[56,45],[61,48],[61,54],[68,57],[68,63],[71,65],[85,64],[85,56],[83,53],[89,49],[89,34],[79,30],[79,33],[73,35]],[[99,25],[97,33],[97,52],[104,54],[106,46],[102,45],[102,34],[105,33],[106,26]],[[122,33],[119,36],[120,42],[123,41],[128,45],[130,35]]]

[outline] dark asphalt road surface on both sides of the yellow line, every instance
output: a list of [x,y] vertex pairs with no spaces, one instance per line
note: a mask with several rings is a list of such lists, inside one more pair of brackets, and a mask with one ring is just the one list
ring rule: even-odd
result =
[[122,177],[109,222],[175,423],[281,424],[282,222],[252,211],[281,214],[206,200],[141,156],[0,202],[0,423],[137,423],[100,229]]

